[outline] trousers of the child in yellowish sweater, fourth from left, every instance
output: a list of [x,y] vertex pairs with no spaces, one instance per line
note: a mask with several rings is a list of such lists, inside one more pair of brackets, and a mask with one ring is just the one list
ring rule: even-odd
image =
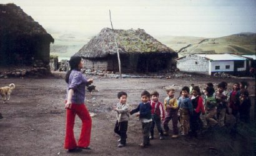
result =
[[167,115],[164,119],[164,130],[165,132],[169,132],[169,127],[168,127],[168,123],[170,122],[170,120],[172,120],[172,128],[174,129],[174,135],[178,135],[179,134],[179,130],[178,130],[178,110],[169,110],[167,111]]

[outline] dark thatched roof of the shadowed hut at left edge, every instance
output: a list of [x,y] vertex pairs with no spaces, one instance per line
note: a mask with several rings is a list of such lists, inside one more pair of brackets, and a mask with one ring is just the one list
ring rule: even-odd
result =
[[38,22],[15,4],[0,4],[0,38],[4,36],[39,36],[54,42],[52,36]]

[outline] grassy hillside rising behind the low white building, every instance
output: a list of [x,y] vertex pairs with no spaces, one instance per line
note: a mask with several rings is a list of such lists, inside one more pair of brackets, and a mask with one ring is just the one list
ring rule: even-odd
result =
[[179,55],[188,54],[255,54],[255,33],[240,33],[211,39],[203,39],[197,44],[189,44],[180,49]]

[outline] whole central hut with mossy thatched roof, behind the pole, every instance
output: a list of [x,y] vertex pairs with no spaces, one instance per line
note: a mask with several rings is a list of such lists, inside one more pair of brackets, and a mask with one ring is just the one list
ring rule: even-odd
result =
[[[143,29],[114,30],[121,57],[122,72],[174,71],[178,57]],[[104,28],[76,54],[85,59],[85,68],[119,71],[112,29]]]

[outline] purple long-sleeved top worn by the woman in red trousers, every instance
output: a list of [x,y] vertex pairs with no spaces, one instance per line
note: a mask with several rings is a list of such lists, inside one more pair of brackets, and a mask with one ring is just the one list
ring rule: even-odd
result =
[[74,90],[74,95],[71,100],[72,104],[84,104],[84,100],[86,99],[86,84],[87,79],[80,71],[71,71],[69,84],[67,85],[67,93],[69,92],[69,89]]

